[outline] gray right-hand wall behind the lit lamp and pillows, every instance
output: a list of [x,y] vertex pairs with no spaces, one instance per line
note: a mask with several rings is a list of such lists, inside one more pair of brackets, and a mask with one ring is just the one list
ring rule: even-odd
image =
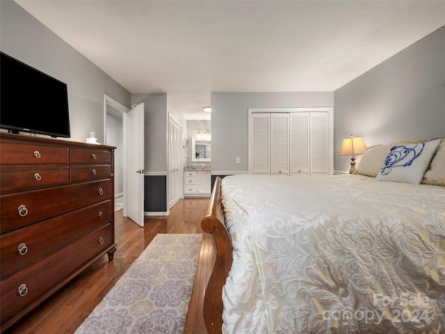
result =
[[350,134],[363,136],[368,146],[444,138],[445,26],[334,94],[334,170],[350,168],[350,157],[339,156],[341,141]]

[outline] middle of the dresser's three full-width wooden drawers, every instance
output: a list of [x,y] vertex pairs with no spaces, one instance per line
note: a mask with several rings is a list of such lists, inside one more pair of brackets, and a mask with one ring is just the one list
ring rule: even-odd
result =
[[[0,237],[1,280],[110,222],[110,200]],[[75,226],[76,228],[73,228]],[[54,231],[57,231],[54,234]]]

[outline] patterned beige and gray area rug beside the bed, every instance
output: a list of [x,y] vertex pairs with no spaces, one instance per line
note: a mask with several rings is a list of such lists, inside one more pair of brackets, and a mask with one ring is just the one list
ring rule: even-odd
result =
[[76,334],[184,333],[202,234],[156,234]]

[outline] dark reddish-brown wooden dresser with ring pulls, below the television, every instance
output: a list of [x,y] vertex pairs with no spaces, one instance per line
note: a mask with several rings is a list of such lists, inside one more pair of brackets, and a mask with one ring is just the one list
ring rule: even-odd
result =
[[113,260],[114,149],[0,133],[0,331]]

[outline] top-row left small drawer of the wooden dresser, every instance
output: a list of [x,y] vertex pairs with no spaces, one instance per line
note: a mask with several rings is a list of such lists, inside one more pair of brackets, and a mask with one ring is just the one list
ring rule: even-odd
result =
[[50,145],[0,143],[0,164],[68,164],[68,148]]

